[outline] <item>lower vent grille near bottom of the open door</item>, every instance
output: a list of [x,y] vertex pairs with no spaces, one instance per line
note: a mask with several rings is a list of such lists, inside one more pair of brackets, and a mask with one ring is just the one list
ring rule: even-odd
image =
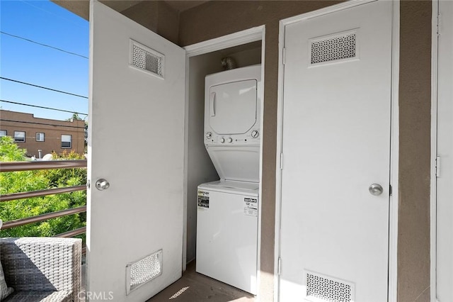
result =
[[162,250],[126,266],[126,293],[151,281],[162,273]]

